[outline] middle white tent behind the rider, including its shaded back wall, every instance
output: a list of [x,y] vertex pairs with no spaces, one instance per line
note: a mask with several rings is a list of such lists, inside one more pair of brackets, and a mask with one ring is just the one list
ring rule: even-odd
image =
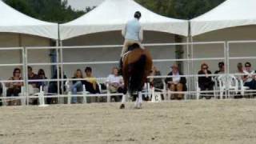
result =
[[[93,46],[93,45],[122,45],[121,30],[126,22],[134,17],[135,11],[141,11],[142,28],[144,30],[143,43],[170,43],[177,41],[178,36],[183,36],[186,41],[188,36],[188,21],[166,18],[154,14],[134,0],[105,0],[101,5],[72,22],[60,25],[60,38],[63,46]],[[147,46],[154,59],[176,58],[176,46]],[[106,62],[118,61],[121,47],[108,49],[65,49],[63,50],[64,62]],[[167,74],[172,62],[155,62],[154,65]],[[106,77],[116,64],[89,65],[97,77]],[[72,76],[77,68],[85,66],[67,66],[68,76]]]

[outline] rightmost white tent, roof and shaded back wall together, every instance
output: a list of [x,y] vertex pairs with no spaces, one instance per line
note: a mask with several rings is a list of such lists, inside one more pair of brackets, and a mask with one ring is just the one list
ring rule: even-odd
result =
[[[256,1],[226,0],[220,6],[191,20],[191,35],[194,42],[256,40]],[[250,57],[256,53],[256,43],[230,45],[230,57]],[[194,58],[222,58],[223,44],[206,44],[194,46]],[[218,70],[218,62],[207,61],[210,70]],[[255,60],[232,59],[230,72],[237,70],[238,62]],[[200,69],[202,62],[194,62],[194,74]]]

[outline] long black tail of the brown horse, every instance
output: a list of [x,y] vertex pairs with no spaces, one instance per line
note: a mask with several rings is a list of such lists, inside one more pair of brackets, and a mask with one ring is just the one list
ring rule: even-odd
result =
[[143,82],[143,77],[145,77],[145,68],[146,68],[146,54],[142,54],[137,62],[132,64],[132,74],[130,76],[128,90],[130,94],[133,94],[135,91],[141,90]]

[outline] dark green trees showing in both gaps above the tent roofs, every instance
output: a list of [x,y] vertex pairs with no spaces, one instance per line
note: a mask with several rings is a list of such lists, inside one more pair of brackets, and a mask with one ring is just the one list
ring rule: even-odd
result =
[[[69,22],[94,9],[72,10],[62,0],[3,0],[14,9],[49,22]],[[155,13],[170,18],[191,19],[218,6],[225,0],[135,0]]]

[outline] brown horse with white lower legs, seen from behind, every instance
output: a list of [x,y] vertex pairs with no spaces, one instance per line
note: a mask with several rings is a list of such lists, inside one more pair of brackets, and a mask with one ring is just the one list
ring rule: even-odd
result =
[[[132,50],[130,50],[132,49]],[[129,52],[122,59],[122,76],[124,94],[120,109],[125,108],[126,96],[137,92],[135,108],[142,108],[142,88],[152,70],[152,57],[148,50],[140,48],[137,43],[129,47]]]

